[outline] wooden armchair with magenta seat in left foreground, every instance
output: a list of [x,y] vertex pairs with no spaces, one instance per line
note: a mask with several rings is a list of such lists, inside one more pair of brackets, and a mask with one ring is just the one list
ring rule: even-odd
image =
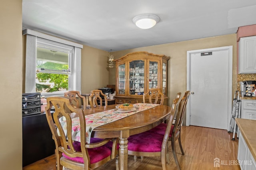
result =
[[[72,105],[66,97],[47,98],[46,118],[56,145],[57,170],[62,170],[63,166],[73,170],[90,170],[114,159],[118,153],[116,139],[91,138],[90,143],[86,143],[84,110]],[[51,113],[52,107],[55,109],[54,113]],[[80,121],[80,142],[72,139],[74,117],[79,117]],[[63,120],[66,121],[66,128],[61,125]]]

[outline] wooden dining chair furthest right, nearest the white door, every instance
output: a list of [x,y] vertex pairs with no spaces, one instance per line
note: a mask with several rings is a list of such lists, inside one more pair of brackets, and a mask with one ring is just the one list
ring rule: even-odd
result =
[[[178,140],[181,153],[182,153],[182,155],[184,155],[184,151],[182,149],[182,144],[181,144],[181,139],[180,139],[180,134],[181,134],[182,121],[183,121],[183,117],[184,117],[184,113],[186,110],[189,96],[190,96],[190,91],[188,90],[184,93],[184,96],[180,100],[180,103],[179,103],[179,106],[177,109],[177,113],[176,113],[176,117],[174,117],[174,118],[176,118],[176,120],[175,120],[175,123],[172,124],[172,126],[171,126],[171,132],[170,132],[170,136],[168,139],[172,143],[172,153],[174,156],[174,160],[176,162],[176,166],[179,170],[180,170],[180,164],[179,164],[178,158],[177,158],[176,141]],[[170,120],[169,120],[168,124],[169,123],[170,123]],[[160,125],[154,127],[153,129],[150,129],[149,132],[152,134],[165,135],[167,127],[168,127],[168,125],[166,125],[166,123],[161,123]]]

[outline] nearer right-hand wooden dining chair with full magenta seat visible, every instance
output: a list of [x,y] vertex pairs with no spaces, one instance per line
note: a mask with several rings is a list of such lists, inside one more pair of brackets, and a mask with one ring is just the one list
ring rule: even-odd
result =
[[173,100],[172,110],[168,117],[169,121],[166,126],[165,134],[160,135],[146,131],[130,136],[128,138],[128,155],[148,157],[161,156],[162,169],[166,170],[166,163],[169,164],[170,162],[168,154],[168,139],[179,99],[180,98],[178,97]]

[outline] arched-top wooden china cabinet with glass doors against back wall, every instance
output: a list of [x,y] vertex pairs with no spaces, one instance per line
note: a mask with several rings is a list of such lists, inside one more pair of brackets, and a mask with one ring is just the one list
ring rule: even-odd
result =
[[[142,52],[124,55],[116,62],[116,104],[142,103],[150,88],[160,88],[167,99],[167,73],[170,57]],[[165,100],[164,104],[167,101]]]

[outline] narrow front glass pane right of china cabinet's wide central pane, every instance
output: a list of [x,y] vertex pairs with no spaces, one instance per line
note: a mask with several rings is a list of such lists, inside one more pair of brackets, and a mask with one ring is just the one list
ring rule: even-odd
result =
[[158,82],[158,61],[149,61],[148,85],[150,88],[157,88]]

